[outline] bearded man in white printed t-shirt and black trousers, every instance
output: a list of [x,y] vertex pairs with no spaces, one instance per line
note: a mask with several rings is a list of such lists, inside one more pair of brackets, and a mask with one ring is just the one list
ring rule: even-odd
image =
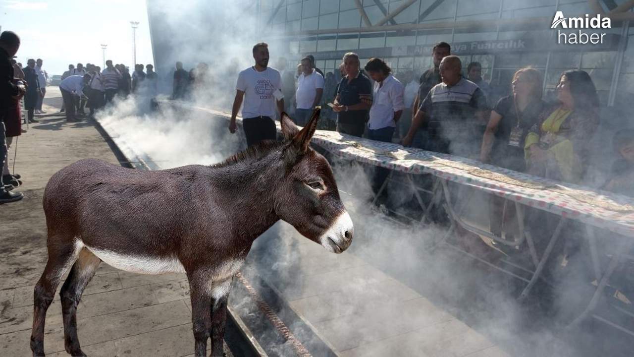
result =
[[236,97],[233,100],[229,131],[236,131],[236,116],[242,107],[242,128],[247,137],[247,145],[255,145],[262,140],[276,140],[277,129],[273,118],[276,107],[284,111],[281,76],[276,69],[268,67],[269,48],[266,43],[253,46],[256,65],[238,74]]

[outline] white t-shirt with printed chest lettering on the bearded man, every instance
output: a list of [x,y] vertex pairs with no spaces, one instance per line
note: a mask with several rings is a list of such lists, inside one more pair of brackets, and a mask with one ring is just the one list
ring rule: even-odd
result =
[[279,90],[281,95],[280,72],[266,67],[262,72],[249,67],[238,74],[236,90],[244,92],[242,118],[268,116],[275,119],[276,102],[273,91]]

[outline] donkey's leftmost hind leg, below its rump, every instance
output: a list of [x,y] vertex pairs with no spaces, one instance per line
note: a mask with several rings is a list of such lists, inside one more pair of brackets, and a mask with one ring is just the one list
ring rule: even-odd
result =
[[[55,243],[51,244],[51,241]],[[31,332],[31,351],[34,356],[44,356],[44,323],[46,311],[53,302],[55,290],[70,264],[77,259],[81,243],[73,239],[51,239],[49,236],[48,261],[42,276],[37,281],[33,293],[33,330]]]

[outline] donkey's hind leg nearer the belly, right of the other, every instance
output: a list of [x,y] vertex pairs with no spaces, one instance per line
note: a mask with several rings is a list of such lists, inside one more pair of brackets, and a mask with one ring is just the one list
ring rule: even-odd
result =
[[70,269],[68,278],[61,286],[61,313],[64,319],[64,347],[71,356],[86,356],[79,347],[77,338],[77,304],[84,288],[94,276],[101,259],[86,248],[79,253],[77,261]]

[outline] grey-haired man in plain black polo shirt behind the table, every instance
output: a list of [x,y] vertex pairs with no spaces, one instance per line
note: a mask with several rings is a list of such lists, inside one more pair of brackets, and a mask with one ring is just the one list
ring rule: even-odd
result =
[[[344,71],[337,89],[333,111],[338,113],[337,131],[340,133],[363,136],[365,123],[368,121],[368,110],[372,107],[372,84],[361,71],[359,56],[356,53],[344,55]],[[361,100],[365,99],[365,100]]]

